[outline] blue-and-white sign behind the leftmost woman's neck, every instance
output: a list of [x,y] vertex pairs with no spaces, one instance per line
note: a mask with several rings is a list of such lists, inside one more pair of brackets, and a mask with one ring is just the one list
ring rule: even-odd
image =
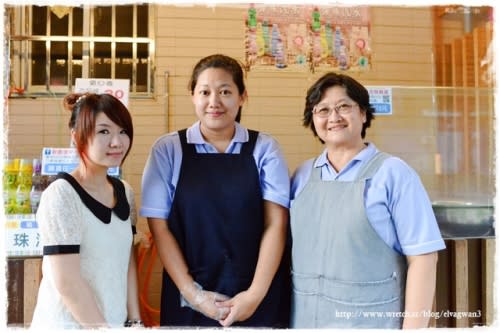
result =
[[[75,148],[48,148],[42,150],[42,175],[53,176],[59,172],[71,172],[80,163]],[[119,176],[120,167],[108,169],[108,175]]]

